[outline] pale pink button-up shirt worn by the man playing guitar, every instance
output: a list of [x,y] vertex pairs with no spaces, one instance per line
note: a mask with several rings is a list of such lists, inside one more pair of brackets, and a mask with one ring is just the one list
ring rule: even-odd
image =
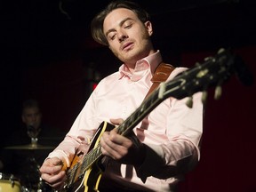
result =
[[[119,71],[100,81],[84,108],[76,117],[65,140],[49,157],[60,157],[70,166],[75,153],[88,150],[88,143],[100,123],[110,118],[131,116],[144,100],[152,82],[152,72],[162,61],[159,51],[139,60],[133,73],[122,65]],[[175,68],[167,81],[187,68]],[[147,148],[146,159],[139,169],[120,164],[119,173],[108,164],[104,174],[124,185],[138,184],[155,191],[171,191],[182,174],[199,160],[199,143],[203,132],[203,105],[201,92],[193,96],[193,108],[188,98],[168,98],[157,106],[133,132]],[[139,177],[138,177],[138,176]]]

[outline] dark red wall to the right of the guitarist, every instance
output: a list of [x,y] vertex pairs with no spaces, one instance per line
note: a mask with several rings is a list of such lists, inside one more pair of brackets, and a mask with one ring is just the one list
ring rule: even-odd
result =
[[[256,47],[236,50],[254,76],[255,51]],[[204,56],[205,52],[189,52],[183,55],[183,61],[191,64]],[[181,184],[180,191],[256,191],[256,85],[244,86],[232,76],[223,84],[220,100],[213,100],[213,88],[209,91],[201,160]]]

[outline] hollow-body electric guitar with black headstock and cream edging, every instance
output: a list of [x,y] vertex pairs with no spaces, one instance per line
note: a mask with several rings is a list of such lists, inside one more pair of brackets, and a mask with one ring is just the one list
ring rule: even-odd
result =
[[[220,49],[214,56],[204,59],[201,64],[189,68],[180,75],[175,76],[171,81],[160,84],[152,92],[140,107],[137,108],[131,116],[124,120],[123,124],[117,127],[117,132],[127,135],[132,129],[143,120],[144,117],[156,108],[162,101],[169,97],[178,100],[188,97],[188,107],[193,107],[192,95],[196,92],[203,92],[202,102],[205,103],[207,89],[212,86],[215,88],[215,99],[221,95],[221,84],[236,72],[235,56],[230,52]],[[101,173],[100,160],[103,157],[100,151],[100,135],[102,132],[113,129],[113,125],[103,122],[95,134],[89,151],[79,161],[73,161],[73,164],[67,171],[67,182],[60,191],[98,191]],[[76,157],[75,157],[76,159]]]

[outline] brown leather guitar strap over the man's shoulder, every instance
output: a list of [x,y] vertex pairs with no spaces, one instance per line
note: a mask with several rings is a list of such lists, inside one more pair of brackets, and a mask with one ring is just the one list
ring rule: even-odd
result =
[[164,62],[160,63],[157,66],[156,71],[155,71],[153,77],[151,78],[151,82],[153,84],[151,85],[150,89],[148,90],[148,93],[147,93],[145,99],[148,98],[148,95],[151,92],[153,92],[159,86],[159,84],[166,81],[166,79],[168,78],[168,76],[171,75],[173,70],[174,70],[174,67],[171,64],[166,64]]

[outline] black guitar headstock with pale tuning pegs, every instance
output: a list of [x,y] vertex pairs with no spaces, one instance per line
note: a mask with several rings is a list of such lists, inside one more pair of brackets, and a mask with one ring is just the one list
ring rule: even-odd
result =
[[215,86],[214,98],[218,100],[221,95],[221,84],[226,82],[234,72],[235,56],[225,49],[220,49],[213,57],[204,59],[203,63],[196,63],[195,67],[175,76],[172,81],[161,84],[159,94],[161,97],[174,97],[183,99],[189,97],[187,105],[193,106],[192,95],[203,92],[202,102],[205,103],[207,90]]

